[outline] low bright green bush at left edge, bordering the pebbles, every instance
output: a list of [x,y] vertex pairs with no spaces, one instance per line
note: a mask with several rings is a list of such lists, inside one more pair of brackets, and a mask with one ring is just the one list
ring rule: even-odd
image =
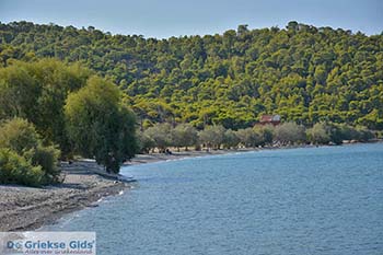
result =
[[0,184],[40,186],[45,184],[42,166],[33,166],[25,158],[10,149],[0,149]]

